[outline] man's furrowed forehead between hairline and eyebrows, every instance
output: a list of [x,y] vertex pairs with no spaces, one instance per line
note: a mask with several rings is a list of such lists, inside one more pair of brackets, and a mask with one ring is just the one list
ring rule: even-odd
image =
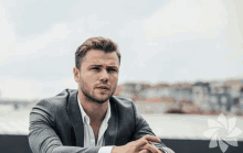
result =
[[98,50],[91,50],[83,58],[82,65],[119,65],[119,59],[116,52],[105,53]]

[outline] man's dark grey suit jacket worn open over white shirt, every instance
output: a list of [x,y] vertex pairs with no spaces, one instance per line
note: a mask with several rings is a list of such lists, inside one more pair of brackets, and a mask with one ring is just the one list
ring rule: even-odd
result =
[[[110,119],[105,145],[124,145],[146,134],[155,135],[131,100],[110,97]],[[30,112],[29,143],[33,153],[97,153],[101,146],[84,147],[84,128],[77,90],[65,89],[40,100]],[[157,143],[157,147],[166,146]]]

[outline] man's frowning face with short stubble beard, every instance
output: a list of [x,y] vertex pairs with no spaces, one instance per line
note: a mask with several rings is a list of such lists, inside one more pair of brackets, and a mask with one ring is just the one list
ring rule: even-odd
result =
[[81,64],[80,89],[89,100],[103,103],[116,90],[119,61],[116,52],[91,50]]

